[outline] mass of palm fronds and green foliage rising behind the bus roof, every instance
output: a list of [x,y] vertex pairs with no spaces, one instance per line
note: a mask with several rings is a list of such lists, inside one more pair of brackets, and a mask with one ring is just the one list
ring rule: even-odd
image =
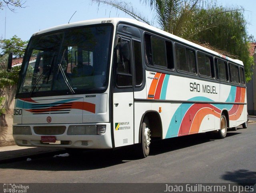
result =
[[[136,20],[144,17],[133,12],[124,2],[92,0],[98,4],[111,5],[128,13]],[[208,47],[230,58],[244,62],[246,81],[251,79],[252,58],[249,57],[246,20],[243,8],[223,8],[216,1],[204,0],[140,0],[150,6],[154,19],[162,30]],[[150,23],[146,21],[146,23]]]

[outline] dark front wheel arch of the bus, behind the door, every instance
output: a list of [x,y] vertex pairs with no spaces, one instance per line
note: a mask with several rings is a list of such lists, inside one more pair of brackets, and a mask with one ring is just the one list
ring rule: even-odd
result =
[[[148,122],[150,125],[151,137],[160,137],[162,139],[163,127],[162,127],[162,119],[158,111],[146,111],[140,120],[140,126],[145,118],[148,118]],[[139,130],[139,143],[141,140],[141,127]]]

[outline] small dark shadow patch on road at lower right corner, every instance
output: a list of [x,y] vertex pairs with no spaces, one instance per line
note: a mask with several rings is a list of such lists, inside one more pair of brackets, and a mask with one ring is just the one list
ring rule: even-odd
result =
[[226,174],[222,175],[222,179],[232,181],[240,185],[244,183],[256,183],[256,172],[249,171],[246,169],[239,169],[237,171],[227,171]]

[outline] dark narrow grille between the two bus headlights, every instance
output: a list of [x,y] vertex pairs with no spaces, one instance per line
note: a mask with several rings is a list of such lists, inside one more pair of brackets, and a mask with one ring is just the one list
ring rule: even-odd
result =
[[65,126],[36,126],[34,132],[38,135],[62,135],[66,130]]

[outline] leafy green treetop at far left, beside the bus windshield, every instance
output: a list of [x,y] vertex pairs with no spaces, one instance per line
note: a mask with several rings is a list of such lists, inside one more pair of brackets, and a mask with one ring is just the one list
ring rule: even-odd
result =
[[13,52],[13,57],[22,58],[24,56],[24,49],[26,48],[28,41],[23,41],[18,36],[14,35],[10,39],[4,39],[0,41],[2,45],[2,54],[9,54]]

